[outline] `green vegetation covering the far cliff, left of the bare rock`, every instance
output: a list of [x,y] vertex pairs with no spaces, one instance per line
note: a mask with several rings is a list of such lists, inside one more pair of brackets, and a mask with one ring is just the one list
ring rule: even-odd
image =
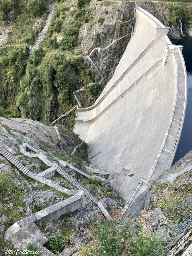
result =
[[[17,27],[12,28],[8,36],[8,42],[12,44],[0,49],[2,56],[0,57],[0,81],[2,81],[0,95],[5,93],[8,99],[3,103],[3,98],[0,96],[2,116],[22,116],[39,121],[46,116],[47,119],[43,121],[49,123],[54,97],[57,98],[63,112],[67,112],[76,104],[73,92],[78,87],[92,82],[91,74],[86,72],[84,57],[74,54],[79,28],[91,19],[87,7],[89,1],[86,0],[78,1],[78,8],[69,12],[70,21],[66,21],[66,24],[65,13],[72,5],[64,1],[57,4],[46,36],[29,61],[26,61],[28,47],[33,44],[46,20],[46,15],[42,13],[47,3],[48,0],[29,0],[22,5],[20,3],[15,9],[12,24]],[[24,16],[27,17],[26,20]],[[34,28],[33,25],[39,18],[41,24]],[[17,32],[19,28],[22,33],[18,31],[18,35],[13,35],[12,31]],[[58,33],[62,36],[59,44],[56,39]],[[31,86],[34,88],[33,91],[30,89]],[[70,125],[72,123],[73,121],[70,120]]]

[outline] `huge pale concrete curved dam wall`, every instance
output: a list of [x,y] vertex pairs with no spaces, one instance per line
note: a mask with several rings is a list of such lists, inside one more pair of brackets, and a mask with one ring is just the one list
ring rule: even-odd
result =
[[90,161],[110,172],[126,200],[141,179],[147,183],[171,166],[187,99],[182,46],[172,45],[169,28],[154,16],[135,10],[134,32],[113,77],[93,106],[78,108],[74,126]]

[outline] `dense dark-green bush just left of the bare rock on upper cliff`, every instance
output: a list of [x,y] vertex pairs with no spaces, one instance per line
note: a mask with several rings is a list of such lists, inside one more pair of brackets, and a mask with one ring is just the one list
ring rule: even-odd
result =
[[62,50],[71,50],[72,47],[77,45],[79,29],[68,27],[63,31],[63,39],[61,41]]

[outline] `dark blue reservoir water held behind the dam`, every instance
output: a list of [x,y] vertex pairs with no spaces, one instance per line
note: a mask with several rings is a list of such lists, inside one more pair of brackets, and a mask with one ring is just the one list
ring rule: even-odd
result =
[[185,59],[188,80],[188,96],[185,121],[179,145],[173,159],[175,164],[181,157],[185,156],[192,150],[192,36],[184,36],[179,40],[172,40],[173,44],[183,45],[183,57]]

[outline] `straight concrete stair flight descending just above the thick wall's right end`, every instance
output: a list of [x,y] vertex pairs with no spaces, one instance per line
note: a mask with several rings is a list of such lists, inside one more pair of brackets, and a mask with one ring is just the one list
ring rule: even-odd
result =
[[61,167],[58,167],[56,169],[56,172],[60,174],[62,177],[64,177],[66,180],[68,180],[76,188],[83,191],[85,193],[85,196],[87,196],[93,203],[98,204],[98,200],[94,196],[92,196],[85,188],[83,188],[83,186],[81,186],[81,184],[79,184],[78,181],[76,181],[70,175],[68,175],[67,172],[63,171]]

